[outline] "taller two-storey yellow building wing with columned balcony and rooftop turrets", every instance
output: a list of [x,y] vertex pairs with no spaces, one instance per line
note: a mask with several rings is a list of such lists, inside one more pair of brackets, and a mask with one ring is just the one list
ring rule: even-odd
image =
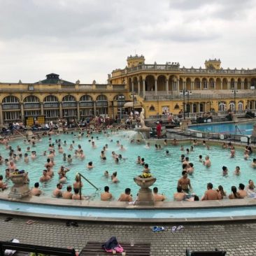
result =
[[115,69],[110,81],[127,85],[146,118],[166,111],[225,114],[256,108],[256,69],[223,69],[220,59],[206,60],[204,69],[187,69],[178,62],[145,64],[143,55],[129,56],[125,69]]

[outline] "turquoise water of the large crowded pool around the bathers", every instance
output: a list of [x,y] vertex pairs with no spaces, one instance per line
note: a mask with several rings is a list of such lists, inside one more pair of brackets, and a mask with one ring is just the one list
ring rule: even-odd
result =
[[[76,133],[77,134],[77,133]],[[110,134],[110,132],[109,132]],[[55,157],[55,176],[48,183],[41,183],[40,187],[43,190],[43,197],[51,197],[52,191],[55,189],[58,183],[57,170],[59,166],[65,165],[71,169],[67,173],[68,183],[73,184],[76,173],[79,171],[89,179],[94,185],[100,188],[100,191],[96,192],[94,187],[83,181],[83,194],[89,195],[92,200],[99,200],[100,192],[104,190],[104,186],[108,185],[110,187],[110,192],[113,194],[115,199],[118,199],[120,194],[124,192],[125,187],[131,188],[131,194],[134,196],[138,192],[139,187],[134,183],[134,176],[137,176],[143,171],[143,167],[136,164],[137,156],[145,157],[145,163],[148,163],[152,174],[157,178],[155,186],[159,188],[160,193],[164,193],[167,199],[170,201],[173,199],[173,193],[176,192],[176,186],[178,179],[181,176],[182,166],[180,162],[180,155],[185,154],[185,151],[180,151],[180,146],[168,145],[163,146],[162,150],[155,151],[155,142],[151,142],[150,148],[145,148],[144,144],[137,145],[129,143],[130,137],[134,134],[134,131],[122,131],[120,134],[110,134],[110,136],[104,136],[104,134],[93,134],[97,148],[93,149],[88,138],[83,137],[80,141],[75,138],[73,134],[52,136],[52,141],[55,139],[66,140],[67,146],[62,145],[64,152],[66,154],[74,155],[74,150],[69,150],[69,145],[72,141],[75,141],[74,149],[80,144],[85,152],[86,158],[84,160],[76,159],[73,157],[73,163],[68,164],[62,159],[62,154],[57,152],[57,145],[55,143],[56,157]],[[99,140],[96,139],[99,136]],[[129,138],[128,138],[129,137]],[[113,142],[111,142],[113,140]],[[116,141],[120,141],[126,151],[121,151],[120,147],[116,144]],[[102,162],[99,155],[101,149],[105,144],[108,144],[108,150],[106,151],[106,162]],[[22,148],[22,154],[24,155],[25,149],[28,145],[24,144],[23,140],[12,141],[10,143],[13,148],[16,149],[17,145]],[[189,148],[190,144],[184,144],[184,148]],[[36,144],[33,147],[36,150],[38,158],[36,160],[29,159],[29,164],[24,163],[23,159],[20,159],[16,165],[19,169],[25,169],[29,172],[29,178],[31,180],[30,186],[32,187],[35,182],[37,182],[42,175],[44,169],[44,164],[46,162],[46,157],[43,157],[43,150],[48,150],[48,137],[43,138],[43,141]],[[112,151],[122,154],[123,157],[127,159],[120,161],[119,164],[115,164],[113,157],[111,157]],[[166,156],[165,151],[169,150],[170,155]],[[8,157],[8,152],[5,150],[4,145],[0,145],[0,152],[3,158]],[[199,162],[199,155],[210,155],[212,166],[207,169],[205,166]],[[250,167],[250,162],[253,159],[253,155],[248,159],[248,161],[243,159],[243,150],[236,150],[236,157],[229,157],[229,150],[223,150],[218,146],[212,146],[210,150],[206,150],[204,146],[194,147],[194,151],[190,152],[190,162],[194,164],[194,174],[190,176],[192,187],[194,188],[194,193],[201,197],[206,190],[206,183],[212,182],[214,187],[222,185],[225,190],[229,193],[230,187],[232,185],[238,186],[239,183],[248,183],[249,179],[256,180],[256,171]],[[86,168],[87,162],[92,161],[94,164],[94,169],[88,170]],[[226,165],[229,174],[228,176],[222,176],[222,166]],[[241,167],[241,175],[235,176],[234,169],[235,166],[239,165]],[[0,173],[4,176],[4,170],[6,165],[0,165]],[[119,183],[112,183],[111,178],[104,177],[104,171],[108,170],[111,174],[114,171],[118,171]],[[11,182],[9,182],[9,185]],[[67,185],[66,184],[66,185]],[[63,187],[63,191],[66,190],[66,185]],[[134,197],[135,199],[135,197]]]

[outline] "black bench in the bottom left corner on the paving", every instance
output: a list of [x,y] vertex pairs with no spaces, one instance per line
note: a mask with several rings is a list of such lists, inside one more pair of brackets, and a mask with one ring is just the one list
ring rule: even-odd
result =
[[0,241],[0,255],[4,255],[4,251],[15,250],[14,256],[24,256],[28,253],[43,253],[45,255],[56,255],[56,256],[76,256],[74,249],[67,248],[56,248],[48,246],[33,246],[25,243],[12,243]]

